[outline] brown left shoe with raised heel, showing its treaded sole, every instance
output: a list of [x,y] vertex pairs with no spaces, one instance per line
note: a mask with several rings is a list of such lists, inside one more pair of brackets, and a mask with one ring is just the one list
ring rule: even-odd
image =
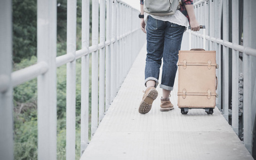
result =
[[158,92],[155,87],[151,86],[145,91],[142,101],[140,102],[139,113],[146,114],[150,111],[153,101],[157,98]]

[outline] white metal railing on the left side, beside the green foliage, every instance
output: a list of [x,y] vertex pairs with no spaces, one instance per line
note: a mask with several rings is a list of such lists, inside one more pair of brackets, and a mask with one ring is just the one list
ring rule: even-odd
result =
[[38,159],[57,159],[56,69],[67,64],[66,157],[75,159],[76,59],[82,59],[82,155],[89,143],[89,57],[92,57],[91,133],[93,135],[145,42],[146,34],[140,30],[140,21],[137,18],[139,11],[122,1],[93,0],[92,46],[90,46],[90,0],[83,0],[82,49],[76,51],[77,4],[76,0],[68,0],[67,54],[56,58],[57,1],[38,0],[37,63],[12,73],[11,7],[11,1],[0,1],[1,158],[13,159],[12,89],[37,77]]

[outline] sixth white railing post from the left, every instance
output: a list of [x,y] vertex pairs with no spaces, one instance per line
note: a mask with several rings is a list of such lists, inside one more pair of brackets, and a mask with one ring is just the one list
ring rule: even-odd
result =
[[[105,44],[106,0],[100,1],[100,43]],[[105,114],[105,47],[100,49],[99,124]]]

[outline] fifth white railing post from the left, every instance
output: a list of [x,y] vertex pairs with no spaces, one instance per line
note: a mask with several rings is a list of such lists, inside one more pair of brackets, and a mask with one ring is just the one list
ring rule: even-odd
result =
[[[99,1],[92,1],[92,46],[99,44]],[[99,53],[92,53],[92,136],[98,127]]]

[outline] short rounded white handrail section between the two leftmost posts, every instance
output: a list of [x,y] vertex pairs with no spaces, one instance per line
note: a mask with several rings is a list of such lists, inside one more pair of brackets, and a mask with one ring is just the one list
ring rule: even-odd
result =
[[23,68],[12,73],[12,85],[17,86],[22,83],[25,83],[41,74],[46,73],[49,69],[46,62],[38,62],[35,65]]

